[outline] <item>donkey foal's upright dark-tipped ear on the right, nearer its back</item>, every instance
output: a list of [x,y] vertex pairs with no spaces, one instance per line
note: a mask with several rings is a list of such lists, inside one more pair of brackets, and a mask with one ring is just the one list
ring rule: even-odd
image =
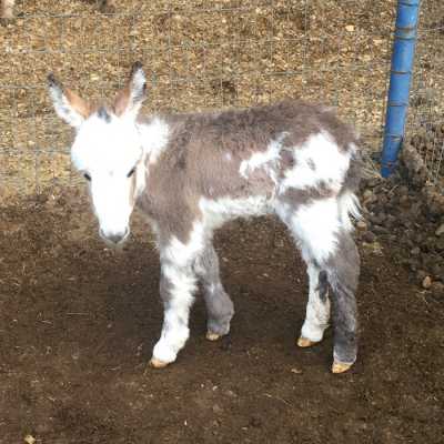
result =
[[130,79],[114,100],[115,115],[129,115],[135,119],[147,98],[147,78],[142,63],[135,62],[132,65]]

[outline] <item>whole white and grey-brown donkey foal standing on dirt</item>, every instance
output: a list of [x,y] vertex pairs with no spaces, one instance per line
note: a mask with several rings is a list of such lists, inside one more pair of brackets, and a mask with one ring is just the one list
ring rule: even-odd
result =
[[173,115],[139,115],[145,75],[132,68],[110,104],[91,104],[53,75],[57,113],[77,130],[72,161],[89,181],[100,235],[120,244],[134,206],[157,235],[164,320],[151,365],[175,361],[189,337],[198,280],[204,287],[209,340],[230,331],[233,303],[219,271],[214,229],[239,216],[275,213],[301,249],[310,279],[297,344],[334,326],[334,373],[356,360],[355,291],[360,258],[350,215],[360,173],[354,131],[326,108],[300,101]]

